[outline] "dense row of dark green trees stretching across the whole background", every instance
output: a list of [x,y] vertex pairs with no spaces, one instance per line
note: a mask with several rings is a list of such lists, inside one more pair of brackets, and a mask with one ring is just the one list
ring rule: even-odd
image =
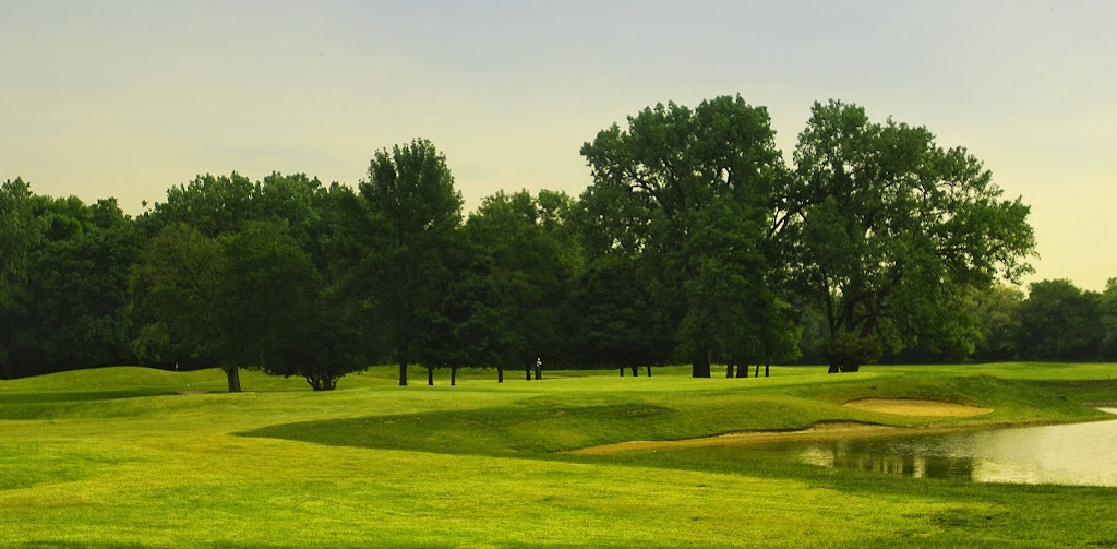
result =
[[766,110],[726,96],[646,108],[582,153],[581,197],[498,192],[468,217],[424,140],[378,151],[355,189],[204,176],[134,219],[8,181],[0,376],[139,361],[220,366],[230,390],[244,367],[331,389],[384,360],[407,385],[412,365],[428,382],[531,379],[540,361],[706,377],[801,354],[853,371],[1114,347],[1109,292],[1078,293],[1082,322],[1109,326],[1068,337],[1088,343],[1028,347],[1056,314],[1030,303],[1059,283],[1028,300],[994,285],[1029,269],[1028,207],[926,129],[815,104],[789,167]]

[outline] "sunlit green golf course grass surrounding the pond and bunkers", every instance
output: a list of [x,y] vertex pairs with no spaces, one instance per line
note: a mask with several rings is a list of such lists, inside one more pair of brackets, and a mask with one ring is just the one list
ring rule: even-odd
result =
[[[556,452],[821,420],[1078,422],[1114,365],[868,367],[828,376],[525,381],[394,370],[332,392],[244,372],[106,368],[0,381],[0,547],[1114,547],[1115,489],[913,480],[728,447]],[[994,408],[932,419],[867,397]]]

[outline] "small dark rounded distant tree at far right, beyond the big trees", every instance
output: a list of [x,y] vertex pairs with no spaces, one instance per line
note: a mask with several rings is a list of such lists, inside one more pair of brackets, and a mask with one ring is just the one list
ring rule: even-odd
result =
[[1094,360],[1102,340],[1100,295],[1068,280],[1028,285],[1020,307],[1022,356],[1040,360]]

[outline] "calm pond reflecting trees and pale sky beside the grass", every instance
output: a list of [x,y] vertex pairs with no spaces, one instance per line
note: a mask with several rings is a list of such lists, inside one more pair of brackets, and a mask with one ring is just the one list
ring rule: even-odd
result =
[[[1117,409],[1105,409],[1117,414]],[[757,448],[760,449],[760,448]],[[764,444],[830,467],[977,482],[1117,486],[1117,419]]]

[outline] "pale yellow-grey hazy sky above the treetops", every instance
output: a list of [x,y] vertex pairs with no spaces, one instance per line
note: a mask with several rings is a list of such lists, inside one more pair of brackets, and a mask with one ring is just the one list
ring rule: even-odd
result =
[[115,197],[200,173],[355,186],[430,139],[471,210],[591,182],[645,106],[741,94],[790,159],[811,104],[928,127],[1031,206],[1030,280],[1117,277],[1117,2],[0,0],[0,180]]

